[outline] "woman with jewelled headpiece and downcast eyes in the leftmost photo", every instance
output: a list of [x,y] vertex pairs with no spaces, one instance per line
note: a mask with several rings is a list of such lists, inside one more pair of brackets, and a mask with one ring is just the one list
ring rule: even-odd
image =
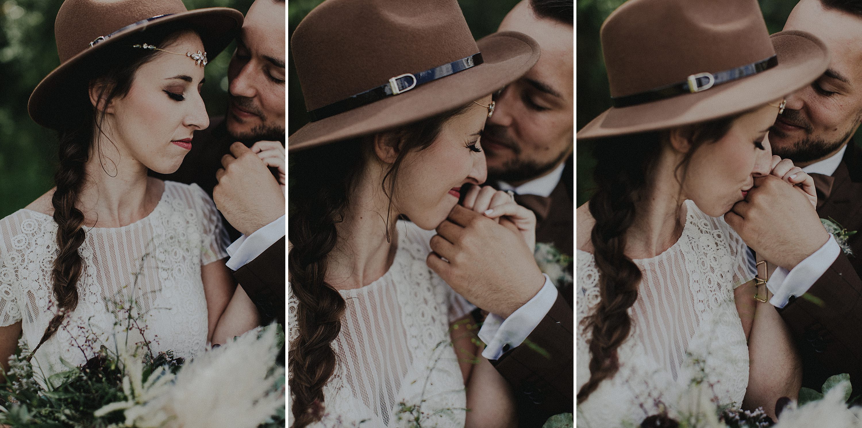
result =
[[179,0],[63,3],[61,65],[28,106],[59,133],[56,187],[0,220],[4,369],[22,332],[47,379],[101,345],[146,340],[194,357],[257,325],[222,260],[209,196],[147,177],[175,171],[208,126],[203,67],[241,22],[237,10]]

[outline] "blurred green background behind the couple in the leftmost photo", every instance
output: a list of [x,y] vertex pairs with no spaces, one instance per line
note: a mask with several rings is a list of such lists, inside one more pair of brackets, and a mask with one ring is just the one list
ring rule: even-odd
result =
[[[146,1],[146,0],[141,0]],[[62,0],[0,0],[0,218],[53,187],[57,139],[27,114],[36,84],[59,65],[53,22]],[[186,8],[228,7],[245,15],[253,0],[183,0]],[[210,115],[228,106],[231,44],[210,59],[203,99]]]

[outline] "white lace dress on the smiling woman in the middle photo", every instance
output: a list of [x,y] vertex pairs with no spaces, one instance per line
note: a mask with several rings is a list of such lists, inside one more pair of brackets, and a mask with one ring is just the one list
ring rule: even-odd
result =
[[[312,427],[464,427],[465,387],[449,324],[473,307],[425,264],[434,231],[403,220],[397,230],[390,270],[340,290],[346,307],[332,343],[334,375],[323,387],[323,418]],[[288,317],[292,341],[297,300],[290,288]],[[412,421],[417,416],[421,425]]]

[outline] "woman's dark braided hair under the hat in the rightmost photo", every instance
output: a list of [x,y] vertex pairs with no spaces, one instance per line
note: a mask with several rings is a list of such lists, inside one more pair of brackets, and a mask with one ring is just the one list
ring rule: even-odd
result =
[[[720,140],[742,113],[683,127],[680,135],[690,147],[675,171],[680,185],[688,174],[691,156],[703,144]],[[597,160],[593,178],[596,194],[590,198],[590,214],[596,220],[590,233],[601,300],[584,319],[590,338],[590,379],[578,390],[584,402],[598,385],[620,368],[616,350],[628,338],[632,319],[628,309],[638,299],[642,273],[625,254],[626,234],[638,213],[638,204],[650,184],[668,132],[640,133],[593,143]]]

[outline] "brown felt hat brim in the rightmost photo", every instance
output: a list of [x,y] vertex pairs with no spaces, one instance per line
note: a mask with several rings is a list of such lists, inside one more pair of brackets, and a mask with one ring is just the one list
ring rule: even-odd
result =
[[828,50],[814,35],[783,31],[772,34],[771,41],[777,66],[701,92],[612,107],[578,131],[578,140],[658,131],[735,115],[799,90],[826,71]]

